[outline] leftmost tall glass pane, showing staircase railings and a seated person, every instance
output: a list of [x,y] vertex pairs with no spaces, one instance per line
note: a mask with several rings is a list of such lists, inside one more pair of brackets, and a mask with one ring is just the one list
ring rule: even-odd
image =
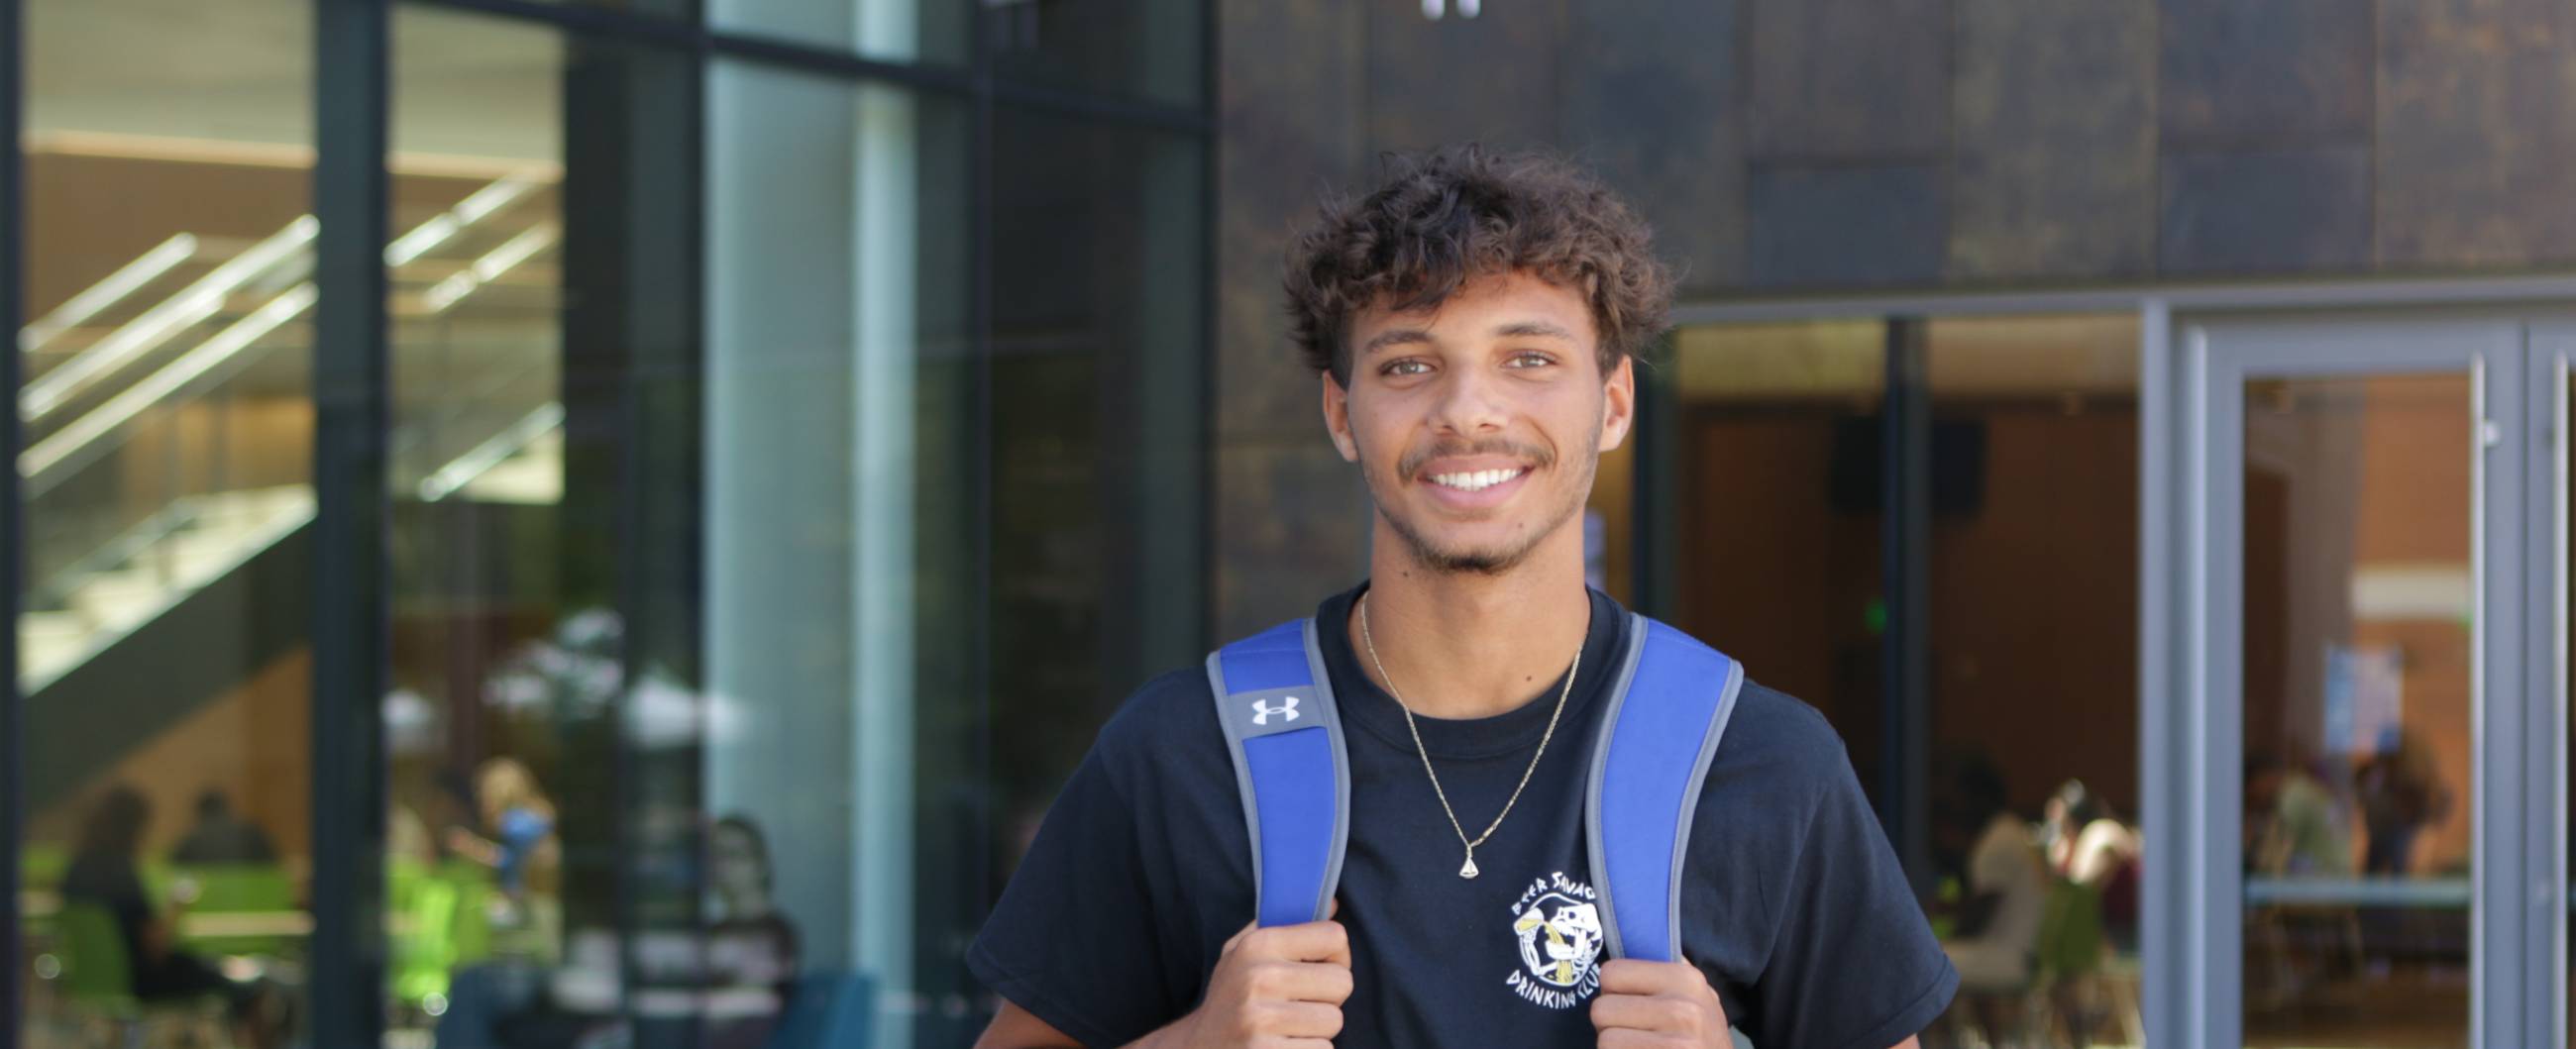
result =
[[278,1036],[312,933],[312,5],[23,18],[15,1034]]

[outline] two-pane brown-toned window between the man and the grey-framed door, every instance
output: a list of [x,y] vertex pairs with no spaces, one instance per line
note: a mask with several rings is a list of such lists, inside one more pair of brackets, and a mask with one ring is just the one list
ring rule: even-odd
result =
[[[1901,613],[1883,580],[1901,526],[1883,505],[1888,353],[1922,353],[1929,407],[1929,737],[1904,784],[1883,668]],[[1677,626],[1821,709],[1891,827],[1922,820],[1909,863],[1963,974],[1950,1023],[1994,1041],[2045,1008],[2084,1041],[2138,1044],[2138,320],[1685,327],[1672,384]],[[2025,1000],[2043,943],[2099,977],[2099,1000]]]

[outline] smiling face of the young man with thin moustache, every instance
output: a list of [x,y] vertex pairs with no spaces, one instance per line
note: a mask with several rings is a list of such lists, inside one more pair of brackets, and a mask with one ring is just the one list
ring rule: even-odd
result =
[[[1566,528],[1628,436],[1628,358],[1607,381],[1584,299],[1528,273],[1481,276],[1435,309],[1363,309],[1350,387],[1324,423],[1378,523],[1427,570],[1502,575]],[[1579,557],[1577,557],[1579,562]]]

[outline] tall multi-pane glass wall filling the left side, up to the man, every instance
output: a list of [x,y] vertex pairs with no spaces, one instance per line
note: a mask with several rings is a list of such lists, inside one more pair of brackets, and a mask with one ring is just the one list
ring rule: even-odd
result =
[[[549,3],[1200,101],[1195,3]],[[314,10],[26,15],[26,1031],[222,1044],[98,974],[309,956]],[[389,77],[386,1044],[969,1041],[1206,644],[1208,142],[446,3]]]

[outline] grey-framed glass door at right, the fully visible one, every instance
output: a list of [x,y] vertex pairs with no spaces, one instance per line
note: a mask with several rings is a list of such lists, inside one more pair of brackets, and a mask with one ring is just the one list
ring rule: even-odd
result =
[[2555,758],[2530,740],[2561,722],[2522,660],[2548,572],[2522,570],[2548,441],[2527,335],[2182,327],[2182,1044],[2501,1046],[2550,1023]]

